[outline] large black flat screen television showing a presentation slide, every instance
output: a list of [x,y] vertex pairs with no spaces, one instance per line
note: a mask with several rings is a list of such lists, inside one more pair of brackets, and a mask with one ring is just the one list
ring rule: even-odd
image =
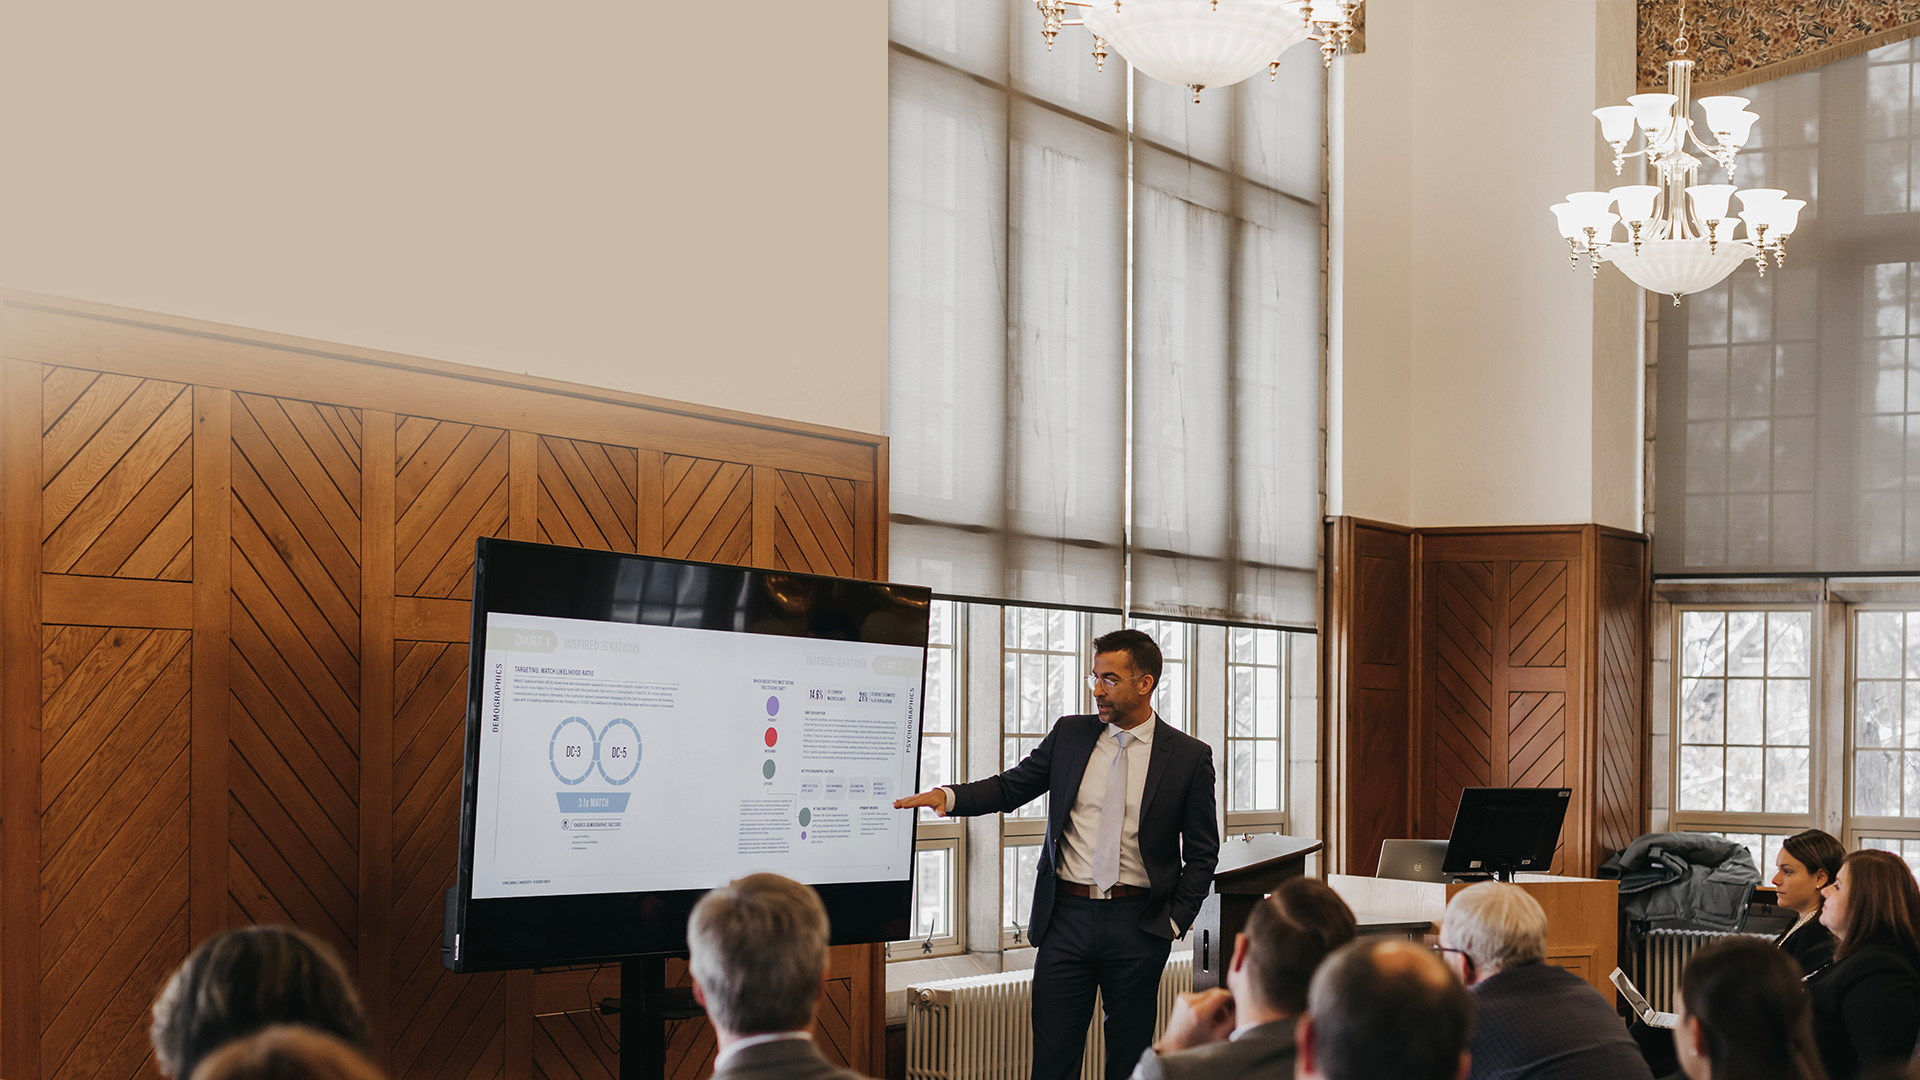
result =
[[682,951],[756,871],[814,886],[835,944],[908,936],[929,601],[482,538],[442,963]]

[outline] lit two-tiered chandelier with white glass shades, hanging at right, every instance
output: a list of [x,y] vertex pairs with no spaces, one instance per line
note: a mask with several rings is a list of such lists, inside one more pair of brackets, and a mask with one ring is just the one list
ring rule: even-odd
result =
[[[1684,27],[1684,8],[1680,19]],[[1601,138],[1613,146],[1613,173],[1620,175],[1628,158],[1644,156],[1659,183],[1574,192],[1553,206],[1553,215],[1574,267],[1586,256],[1594,277],[1599,277],[1599,263],[1613,263],[1640,288],[1672,294],[1680,304],[1688,292],[1726,281],[1745,259],[1753,259],[1763,277],[1768,254],[1774,265],[1786,265],[1786,238],[1807,204],[1786,198],[1788,192],[1778,188],[1736,190],[1734,184],[1695,183],[1701,161],[1688,154],[1688,144],[1713,158],[1732,181],[1734,154],[1747,144],[1747,133],[1761,117],[1747,111],[1747,98],[1701,98],[1715,144],[1701,142],[1693,135],[1693,61],[1684,56],[1686,31],[1674,40],[1674,50],[1682,56],[1667,63],[1665,94],[1634,94],[1626,106],[1594,110]],[[1636,125],[1645,144],[1628,154]],[[1728,213],[1736,196],[1738,219]],[[1740,225],[1747,231],[1736,240]],[[1626,236],[1617,238],[1615,227],[1624,227]]]

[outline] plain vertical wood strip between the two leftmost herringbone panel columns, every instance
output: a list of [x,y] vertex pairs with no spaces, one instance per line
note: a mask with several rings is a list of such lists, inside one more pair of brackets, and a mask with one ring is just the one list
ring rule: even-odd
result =
[[232,392],[194,388],[192,938],[227,928],[232,630]]

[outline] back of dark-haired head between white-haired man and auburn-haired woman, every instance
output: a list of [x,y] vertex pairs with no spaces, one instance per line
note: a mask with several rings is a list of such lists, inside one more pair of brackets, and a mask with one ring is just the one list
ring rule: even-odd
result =
[[1688,1080],[1824,1080],[1799,965],[1761,938],[1693,953],[1674,1049]]

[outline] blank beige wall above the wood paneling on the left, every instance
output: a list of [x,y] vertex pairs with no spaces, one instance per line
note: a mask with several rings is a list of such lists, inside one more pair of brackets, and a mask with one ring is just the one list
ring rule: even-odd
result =
[[879,432],[885,4],[12,4],[0,284]]

